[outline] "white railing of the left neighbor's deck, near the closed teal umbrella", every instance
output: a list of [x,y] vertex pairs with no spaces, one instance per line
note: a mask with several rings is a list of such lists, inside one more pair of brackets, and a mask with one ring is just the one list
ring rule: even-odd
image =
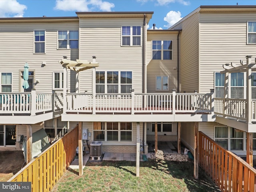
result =
[[49,112],[63,108],[63,94],[37,93],[32,90],[27,93],[0,93],[0,114],[28,114],[31,116],[40,112]]

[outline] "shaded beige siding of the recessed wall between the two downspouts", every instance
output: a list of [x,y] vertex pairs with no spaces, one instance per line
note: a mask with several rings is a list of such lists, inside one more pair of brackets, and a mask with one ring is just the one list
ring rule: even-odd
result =
[[[169,76],[169,90],[178,88],[178,54],[177,54],[177,36],[178,32],[152,33],[148,32],[146,46],[146,68],[147,68],[147,92],[159,93],[156,91],[156,76]],[[172,60],[152,60],[152,40],[172,40]]]

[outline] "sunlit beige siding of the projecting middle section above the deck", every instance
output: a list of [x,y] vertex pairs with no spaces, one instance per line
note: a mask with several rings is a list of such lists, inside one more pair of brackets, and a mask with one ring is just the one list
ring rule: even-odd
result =
[[[141,46],[121,46],[121,27],[141,26],[143,18],[86,18],[80,19],[80,59],[96,56],[96,71],[132,71],[132,88],[142,92]],[[80,92],[92,92],[92,70],[80,73]]]

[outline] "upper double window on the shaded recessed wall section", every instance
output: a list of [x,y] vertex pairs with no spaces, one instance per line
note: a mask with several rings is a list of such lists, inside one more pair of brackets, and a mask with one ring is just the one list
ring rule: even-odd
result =
[[154,40],[152,41],[153,60],[172,60],[172,41]]

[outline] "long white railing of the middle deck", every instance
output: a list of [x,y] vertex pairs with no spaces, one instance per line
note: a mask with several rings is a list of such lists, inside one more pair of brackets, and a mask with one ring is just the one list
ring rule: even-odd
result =
[[63,112],[122,112],[122,113],[210,113],[212,94],[198,93],[134,93],[131,94],[76,94],[67,93],[67,108]]

